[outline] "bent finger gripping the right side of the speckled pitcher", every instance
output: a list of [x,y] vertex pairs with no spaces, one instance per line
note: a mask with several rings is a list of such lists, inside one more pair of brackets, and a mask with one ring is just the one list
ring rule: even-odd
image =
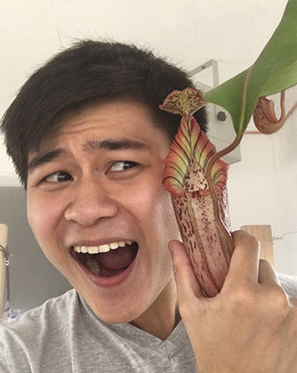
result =
[[229,274],[232,278],[246,278],[258,281],[260,243],[254,236],[244,231],[232,233],[234,251]]

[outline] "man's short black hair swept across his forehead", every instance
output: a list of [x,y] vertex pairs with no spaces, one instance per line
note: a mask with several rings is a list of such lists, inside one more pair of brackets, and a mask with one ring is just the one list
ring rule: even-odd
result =
[[[85,40],[75,42],[34,72],[6,110],[1,130],[7,153],[27,186],[27,157],[37,151],[55,118],[89,101],[135,100],[147,106],[171,140],[180,117],[158,105],[174,89],[194,87],[187,73],[133,44]],[[206,111],[195,118],[206,132]]]

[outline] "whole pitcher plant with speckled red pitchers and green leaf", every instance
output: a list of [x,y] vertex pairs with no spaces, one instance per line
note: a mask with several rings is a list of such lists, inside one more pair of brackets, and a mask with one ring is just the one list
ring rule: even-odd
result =
[[[179,132],[164,159],[164,187],[172,195],[179,231],[195,275],[208,296],[216,295],[225,280],[233,243],[227,202],[227,169],[220,158],[236,148],[253,116],[263,133],[284,126],[285,90],[297,84],[297,1],[289,0],[278,28],[255,64],[217,88],[201,94],[194,88],[173,91],[162,110],[181,115]],[[267,95],[281,92],[281,116]],[[228,110],[236,137],[216,152],[193,114],[206,103]]]

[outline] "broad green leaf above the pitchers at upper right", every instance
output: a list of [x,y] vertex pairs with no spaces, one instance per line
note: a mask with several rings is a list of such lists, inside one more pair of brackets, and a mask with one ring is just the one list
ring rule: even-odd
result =
[[228,110],[237,134],[244,133],[258,97],[297,84],[297,0],[289,0],[278,28],[255,64],[203,94]]

